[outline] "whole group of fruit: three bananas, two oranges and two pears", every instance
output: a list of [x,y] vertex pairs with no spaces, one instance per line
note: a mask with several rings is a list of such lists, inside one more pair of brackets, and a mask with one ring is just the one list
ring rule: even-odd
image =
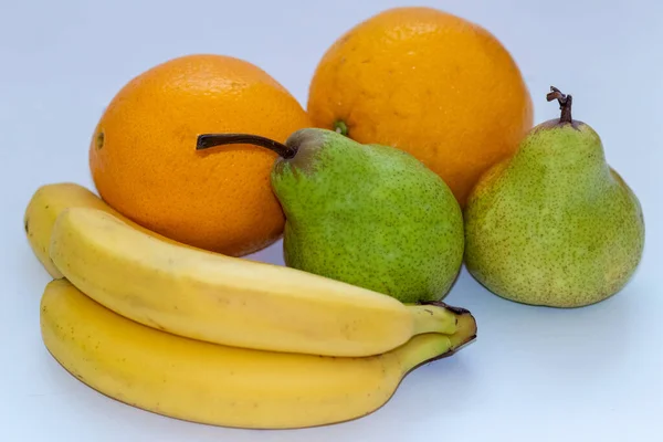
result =
[[[294,429],[364,417],[473,343],[443,301],[463,263],[502,298],[601,302],[638,267],[642,209],[571,95],[545,98],[560,117],[534,126],[507,50],[430,8],[340,36],[307,109],[239,59],[157,65],[94,128],[95,189],[27,206],[43,343],[140,409]],[[281,238],[285,265],[246,257]]]

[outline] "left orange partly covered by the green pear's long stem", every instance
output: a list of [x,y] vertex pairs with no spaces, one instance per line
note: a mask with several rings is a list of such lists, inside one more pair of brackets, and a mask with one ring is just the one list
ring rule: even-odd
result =
[[117,93],[92,137],[90,167],[99,196],[136,223],[241,256],[283,232],[270,185],[276,155],[250,145],[197,151],[198,135],[235,131],[285,141],[309,125],[297,101],[255,65],[188,55],[144,72]]

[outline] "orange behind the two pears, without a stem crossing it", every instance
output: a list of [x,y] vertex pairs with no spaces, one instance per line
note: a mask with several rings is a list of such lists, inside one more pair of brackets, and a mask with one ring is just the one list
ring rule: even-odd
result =
[[518,66],[485,29],[432,8],[389,9],[325,53],[311,83],[316,127],[406,150],[464,206],[482,172],[533,125]]

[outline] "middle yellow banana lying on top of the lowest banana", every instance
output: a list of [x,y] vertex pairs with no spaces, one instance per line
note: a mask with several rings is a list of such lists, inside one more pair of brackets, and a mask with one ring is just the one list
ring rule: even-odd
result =
[[50,250],[64,276],[105,307],[215,344],[370,356],[457,327],[459,312],[443,303],[407,306],[295,269],[185,249],[95,209],[65,210]]

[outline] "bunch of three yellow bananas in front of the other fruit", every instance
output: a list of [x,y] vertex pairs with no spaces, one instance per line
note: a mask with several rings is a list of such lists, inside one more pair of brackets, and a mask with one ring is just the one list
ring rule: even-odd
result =
[[41,301],[49,351],[156,413],[252,429],[347,421],[476,336],[465,309],[179,244],[74,183],[40,188],[24,222],[54,278]]

